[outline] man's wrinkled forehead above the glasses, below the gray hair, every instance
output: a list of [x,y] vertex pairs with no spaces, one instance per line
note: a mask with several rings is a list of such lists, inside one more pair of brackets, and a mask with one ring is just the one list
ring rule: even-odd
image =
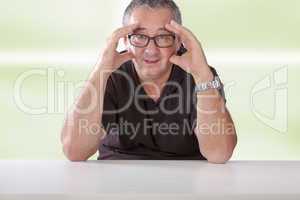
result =
[[147,34],[169,33],[165,25],[172,20],[172,12],[168,8],[135,8],[129,18],[129,24],[138,23],[135,32]]

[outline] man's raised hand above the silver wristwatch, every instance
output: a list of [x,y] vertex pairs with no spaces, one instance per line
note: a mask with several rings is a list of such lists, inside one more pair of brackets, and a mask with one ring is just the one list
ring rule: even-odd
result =
[[170,62],[190,73],[198,83],[211,81],[213,74],[209,69],[201,44],[194,34],[173,20],[170,24],[166,24],[166,29],[177,34],[187,49],[182,56],[173,55]]

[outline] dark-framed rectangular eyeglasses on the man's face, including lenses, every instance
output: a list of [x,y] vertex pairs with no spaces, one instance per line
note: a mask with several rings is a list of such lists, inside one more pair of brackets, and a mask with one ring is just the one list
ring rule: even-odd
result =
[[172,34],[157,35],[154,37],[143,34],[131,34],[128,35],[128,38],[132,46],[139,48],[148,46],[150,40],[154,40],[155,45],[159,48],[169,48],[174,45],[176,37]]

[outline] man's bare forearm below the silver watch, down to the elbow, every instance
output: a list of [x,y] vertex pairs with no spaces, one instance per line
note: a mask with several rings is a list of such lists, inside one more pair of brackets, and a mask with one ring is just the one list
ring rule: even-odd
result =
[[216,89],[197,94],[195,133],[208,161],[225,163],[230,159],[237,137],[225,101]]

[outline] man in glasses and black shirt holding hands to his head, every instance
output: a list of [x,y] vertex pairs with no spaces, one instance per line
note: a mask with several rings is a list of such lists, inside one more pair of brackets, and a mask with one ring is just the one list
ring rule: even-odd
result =
[[70,160],[97,150],[99,159],[230,159],[237,137],[222,84],[181,23],[172,0],[132,0],[67,115]]

